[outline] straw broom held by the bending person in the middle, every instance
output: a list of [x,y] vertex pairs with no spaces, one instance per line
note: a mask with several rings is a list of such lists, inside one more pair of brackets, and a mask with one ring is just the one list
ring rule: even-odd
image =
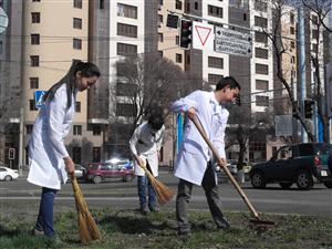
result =
[[154,187],[157,196],[157,200],[160,205],[164,205],[168,203],[173,196],[174,193],[170,188],[168,188],[165,184],[157,180],[154,175],[147,169],[146,165],[139,165],[145,174],[147,175],[148,180],[151,181],[152,186]]

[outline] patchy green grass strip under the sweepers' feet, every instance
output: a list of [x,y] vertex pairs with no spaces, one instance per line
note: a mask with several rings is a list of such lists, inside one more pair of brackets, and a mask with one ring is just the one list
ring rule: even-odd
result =
[[[92,210],[103,234],[102,241],[89,246],[80,243],[76,214],[56,212],[55,230],[69,249],[129,249],[129,248],[197,248],[197,249],[332,249],[332,220],[297,215],[264,215],[276,227],[267,231],[252,228],[249,214],[226,212],[231,224],[228,231],[219,231],[207,211],[189,211],[191,238],[177,238],[174,210],[142,216],[136,210]],[[30,235],[34,216],[23,212],[17,217],[0,215],[0,248],[60,248],[53,241]]]

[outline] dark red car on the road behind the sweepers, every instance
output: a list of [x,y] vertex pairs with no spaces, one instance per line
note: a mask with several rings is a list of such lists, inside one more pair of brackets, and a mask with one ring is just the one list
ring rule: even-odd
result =
[[100,184],[107,178],[121,178],[123,181],[132,181],[134,168],[131,160],[105,160],[92,163],[85,174],[85,179],[94,184]]

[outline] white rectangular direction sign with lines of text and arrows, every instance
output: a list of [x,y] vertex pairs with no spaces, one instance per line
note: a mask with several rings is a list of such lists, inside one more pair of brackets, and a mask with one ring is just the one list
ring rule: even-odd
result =
[[241,56],[252,56],[252,35],[216,27],[215,51]]

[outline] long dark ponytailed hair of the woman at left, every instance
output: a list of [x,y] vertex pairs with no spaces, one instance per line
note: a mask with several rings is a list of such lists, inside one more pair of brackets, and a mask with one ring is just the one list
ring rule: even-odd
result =
[[66,84],[66,107],[70,108],[72,105],[72,95],[76,89],[75,80],[77,72],[81,72],[81,75],[83,77],[101,76],[101,72],[95,64],[91,62],[82,62],[80,60],[74,60],[69,72],[58,83],[52,85],[51,89],[44,94],[43,101],[52,101],[58,89],[60,89],[62,84]]

